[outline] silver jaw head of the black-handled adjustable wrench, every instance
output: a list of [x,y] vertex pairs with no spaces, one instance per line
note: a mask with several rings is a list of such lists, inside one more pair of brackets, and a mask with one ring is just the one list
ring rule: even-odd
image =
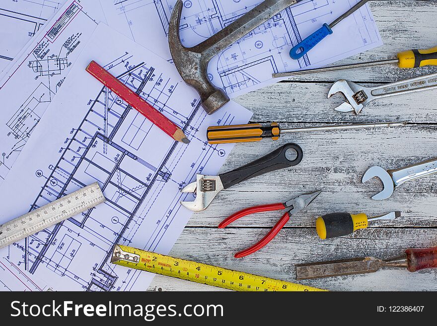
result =
[[204,210],[221,190],[223,184],[220,177],[198,174],[195,182],[181,190],[182,193],[196,193],[196,198],[194,201],[181,201],[181,204],[195,212]]

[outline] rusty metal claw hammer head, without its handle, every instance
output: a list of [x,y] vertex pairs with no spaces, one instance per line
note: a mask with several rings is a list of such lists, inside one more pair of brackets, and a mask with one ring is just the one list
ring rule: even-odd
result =
[[229,102],[229,97],[221,88],[214,86],[208,77],[208,64],[218,53],[209,44],[201,43],[192,48],[182,45],[179,36],[183,2],[178,0],[171,13],[168,25],[168,44],[174,65],[182,79],[200,95],[201,106],[208,114],[213,114]]

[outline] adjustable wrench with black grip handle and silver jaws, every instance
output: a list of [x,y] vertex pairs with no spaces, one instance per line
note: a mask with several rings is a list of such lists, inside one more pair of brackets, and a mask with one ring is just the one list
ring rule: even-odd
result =
[[[295,158],[288,158],[290,151],[296,153]],[[196,199],[181,201],[181,204],[193,211],[204,210],[221,190],[268,172],[290,168],[299,164],[302,158],[302,148],[297,144],[288,143],[252,163],[218,176],[198,174],[195,182],[181,190],[182,193],[196,193]]]

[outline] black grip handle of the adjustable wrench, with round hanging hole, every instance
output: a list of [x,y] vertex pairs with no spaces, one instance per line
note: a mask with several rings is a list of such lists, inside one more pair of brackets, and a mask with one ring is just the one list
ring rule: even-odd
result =
[[[297,156],[294,160],[289,160],[286,157],[286,152],[292,149],[296,151]],[[252,163],[220,174],[219,177],[221,179],[221,183],[223,184],[223,188],[227,189],[242,181],[252,179],[262,174],[295,166],[302,161],[302,158],[302,148],[295,143],[288,143],[274,150],[270,154],[253,161]]]

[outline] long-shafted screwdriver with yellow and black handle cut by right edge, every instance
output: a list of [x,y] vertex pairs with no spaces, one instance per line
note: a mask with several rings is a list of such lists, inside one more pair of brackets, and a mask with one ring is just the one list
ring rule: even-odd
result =
[[306,70],[289,71],[289,72],[278,72],[273,74],[273,78],[297,76],[297,75],[303,75],[312,72],[335,71],[335,70],[371,67],[376,65],[391,65],[391,64],[397,64],[399,68],[417,68],[417,67],[423,67],[425,65],[437,65],[437,47],[427,50],[408,50],[404,52],[399,52],[397,59],[371,61],[371,62],[364,62],[361,64],[352,64],[352,65],[337,65],[337,66],[329,66],[329,67],[322,67],[316,69],[306,69]]

